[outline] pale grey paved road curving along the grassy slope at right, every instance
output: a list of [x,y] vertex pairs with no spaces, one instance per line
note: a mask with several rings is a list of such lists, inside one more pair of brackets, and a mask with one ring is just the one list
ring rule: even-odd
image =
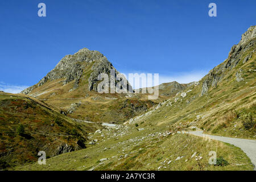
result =
[[[251,159],[254,167],[256,166],[256,140],[207,135],[203,134],[203,131],[189,131],[189,134],[199,137],[209,137],[210,139],[233,144],[234,146],[241,148],[241,150],[245,152],[245,154]],[[254,170],[255,169],[256,167],[254,168]]]

